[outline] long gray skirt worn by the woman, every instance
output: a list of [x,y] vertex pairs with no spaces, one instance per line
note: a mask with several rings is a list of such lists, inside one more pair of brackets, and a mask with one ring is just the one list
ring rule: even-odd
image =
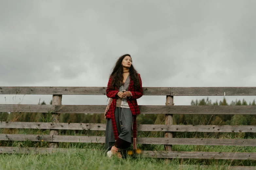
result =
[[[123,109],[123,114],[122,114]],[[121,120],[121,121],[120,121]],[[130,108],[115,108],[115,122],[118,131],[118,137],[131,143],[132,135],[132,113]],[[111,119],[107,119],[105,149],[109,150],[115,144],[115,136]]]

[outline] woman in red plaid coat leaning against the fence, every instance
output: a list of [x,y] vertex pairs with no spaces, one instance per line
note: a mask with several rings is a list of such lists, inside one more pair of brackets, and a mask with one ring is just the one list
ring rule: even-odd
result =
[[137,104],[142,94],[140,74],[132,65],[129,54],[125,54],[116,61],[110,75],[107,97],[111,98],[109,110],[105,112],[107,119],[105,149],[111,157],[118,154],[119,149],[129,148],[131,134],[133,134],[133,149],[137,149],[136,142],[136,115],[140,114]]

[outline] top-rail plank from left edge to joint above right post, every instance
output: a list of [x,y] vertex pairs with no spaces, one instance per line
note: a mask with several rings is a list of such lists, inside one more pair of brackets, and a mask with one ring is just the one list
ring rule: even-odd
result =
[[[106,95],[107,87],[0,87],[0,94]],[[170,87],[143,87],[143,95],[170,95]]]

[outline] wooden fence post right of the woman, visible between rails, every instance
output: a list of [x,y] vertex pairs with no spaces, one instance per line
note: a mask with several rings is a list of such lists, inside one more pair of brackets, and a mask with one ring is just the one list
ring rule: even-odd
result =
[[[166,96],[166,106],[173,105],[173,96],[167,95]],[[165,125],[172,125],[172,114],[165,114]],[[172,138],[172,132],[165,132],[164,137]],[[166,151],[172,151],[172,145],[164,145],[164,149]]]

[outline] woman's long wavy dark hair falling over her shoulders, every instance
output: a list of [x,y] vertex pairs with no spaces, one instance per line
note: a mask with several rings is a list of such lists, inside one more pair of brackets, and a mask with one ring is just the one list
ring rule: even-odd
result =
[[[112,79],[110,84],[111,89],[119,88],[123,84],[124,77],[123,77],[122,61],[126,56],[131,57],[130,54],[122,55],[117,59],[115,66],[113,67],[113,71],[110,74],[110,77]],[[133,67],[133,64],[131,64],[129,72],[130,72],[131,79],[134,82],[135,89],[139,89],[140,88],[139,75],[136,69]]]

